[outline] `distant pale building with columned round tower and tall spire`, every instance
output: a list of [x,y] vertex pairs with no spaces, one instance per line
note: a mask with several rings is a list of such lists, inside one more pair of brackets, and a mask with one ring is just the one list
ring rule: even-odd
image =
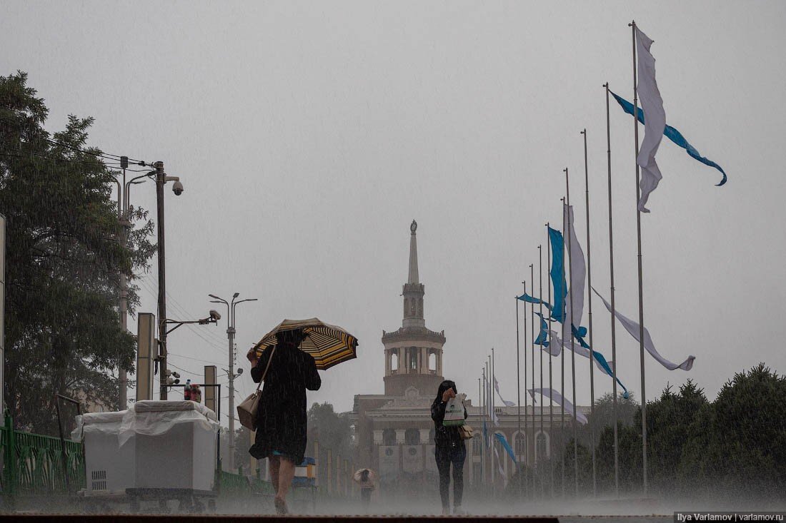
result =
[[[431,404],[439,383],[443,382],[443,347],[445,331],[432,331],[425,326],[424,285],[420,282],[417,266],[417,223],[410,225],[409,277],[404,283],[402,327],[396,331],[382,331],[384,346],[384,394],[356,394],[351,419],[358,443],[355,463],[358,467],[376,470],[382,488],[410,490],[413,493],[436,488],[434,459],[434,422]],[[523,370],[522,370],[523,371]],[[460,392],[472,395],[475,383],[458,383]],[[522,397],[523,397],[522,391]],[[540,400],[540,398],[538,398]],[[500,402],[501,403],[501,402]],[[497,407],[498,426],[490,426],[488,435],[497,446],[483,448],[482,427],[484,409],[466,401],[467,422],[475,437],[467,442],[465,484],[480,485],[494,482],[504,485],[516,471],[516,464],[505,449],[494,439],[501,433],[509,441],[520,463],[534,463],[533,447],[538,448],[538,459],[549,455],[553,420],[559,430],[558,409],[527,407],[521,409],[521,431],[517,407]],[[584,408],[579,408],[586,410]],[[565,415],[565,426],[570,416]],[[537,444],[533,444],[532,438]],[[494,455],[494,466],[490,455]],[[500,459],[496,458],[500,456]],[[500,473],[500,469],[502,473]],[[486,480],[482,481],[485,477]]]

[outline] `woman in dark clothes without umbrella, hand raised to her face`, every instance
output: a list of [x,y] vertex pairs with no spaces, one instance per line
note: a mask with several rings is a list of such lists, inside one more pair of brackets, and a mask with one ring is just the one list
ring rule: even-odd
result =
[[[464,460],[467,448],[458,426],[444,426],[445,408],[451,397],[456,397],[456,384],[449,379],[439,384],[437,397],[432,403],[434,420],[434,457],[439,470],[439,497],[442,499],[443,514],[450,514],[450,465],[453,465],[453,513],[465,514],[461,510],[461,496],[464,494]],[[467,419],[467,409],[464,409]]]

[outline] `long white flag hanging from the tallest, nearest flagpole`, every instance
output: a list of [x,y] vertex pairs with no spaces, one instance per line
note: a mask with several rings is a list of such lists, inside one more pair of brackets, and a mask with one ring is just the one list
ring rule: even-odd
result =
[[637,93],[641,97],[641,109],[645,114],[644,140],[641,141],[639,155],[636,162],[641,167],[641,199],[638,210],[648,213],[645,207],[649,193],[654,191],[658,182],[663,177],[658,164],[655,162],[655,153],[658,152],[663,130],[666,129],[666,111],[663,110],[663,98],[660,97],[658,82],[655,80],[655,58],[649,52],[652,40],[636,27],[636,54],[638,57],[638,83]]

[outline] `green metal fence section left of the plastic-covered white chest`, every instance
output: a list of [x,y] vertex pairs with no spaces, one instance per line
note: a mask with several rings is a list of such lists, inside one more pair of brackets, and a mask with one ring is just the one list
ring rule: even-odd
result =
[[13,430],[6,416],[0,426],[2,490],[5,494],[67,494],[85,487],[85,453],[78,441]]

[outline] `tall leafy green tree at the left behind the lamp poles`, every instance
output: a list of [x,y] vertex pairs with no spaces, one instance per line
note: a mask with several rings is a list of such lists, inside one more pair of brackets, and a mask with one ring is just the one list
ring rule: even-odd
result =
[[[0,77],[0,210],[6,215],[6,404],[17,427],[56,433],[56,393],[117,407],[134,336],[119,327],[119,273],[147,269],[152,223],[119,246],[116,172],[86,148],[93,119],[43,128],[27,75]],[[135,210],[134,221],[145,221]],[[130,285],[129,309],[138,304]]]

